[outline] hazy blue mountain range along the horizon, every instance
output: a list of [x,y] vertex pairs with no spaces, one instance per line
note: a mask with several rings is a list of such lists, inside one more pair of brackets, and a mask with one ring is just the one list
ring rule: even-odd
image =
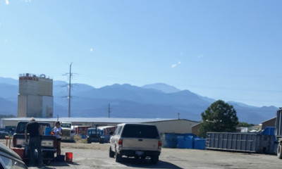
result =
[[[215,100],[168,84],[113,84],[94,88],[87,84],[73,84],[71,117],[112,118],[186,118],[201,120],[201,113]],[[54,117],[68,116],[67,82],[54,81]],[[109,106],[110,104],[110,106]],[[237,111],[241,122],[262,123],[275,117],[275,106],[249,106],[228,101]],[[18,80],[0,77],[0,114],[17,115]]]

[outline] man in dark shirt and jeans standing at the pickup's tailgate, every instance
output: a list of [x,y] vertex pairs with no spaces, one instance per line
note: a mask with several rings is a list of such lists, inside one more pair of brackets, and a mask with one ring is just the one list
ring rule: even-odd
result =
[[25,141],[27,142],[27,133],[30,133],[30,165],[35,165],[35,148],[38,151],[38,165],[43,165],[41,148],[41,130],[35,118],[30,118],[25,128]]

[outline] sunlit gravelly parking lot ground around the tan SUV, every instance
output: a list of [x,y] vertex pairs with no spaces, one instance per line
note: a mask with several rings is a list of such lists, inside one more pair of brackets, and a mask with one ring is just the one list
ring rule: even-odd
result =
[[73,152],[73,163],[51,162],[44,168],[281,168],[274,155],[195,149],[162,149],[159,163],[109,158],[109,144],[62,143],[63,154]]

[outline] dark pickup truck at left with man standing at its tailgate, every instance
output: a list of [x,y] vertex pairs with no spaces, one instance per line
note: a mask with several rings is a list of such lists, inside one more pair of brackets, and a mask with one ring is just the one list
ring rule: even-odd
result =
[[[23,161],[30,160],[30,149],[28,147],[28,143],[25,142],[25,127],[28,122],[19,122],[16,127],[16,132],[13,135],[13,147],[24,148],[25,154],[23,156]],[[50,127],[49,123],[38,122],[39,127],[44,130],[44,127]],[[27,139],[29,139],[29,134],[27,134]],[[42,131],[42,157],[43,162],[49,164],[52,160],[54,160],[54,154],[56,153],[56,137],[44,135],[44,131]],[[36,151],[35,151],[36,152]],[[37,154],[35,153],[35,157]]]

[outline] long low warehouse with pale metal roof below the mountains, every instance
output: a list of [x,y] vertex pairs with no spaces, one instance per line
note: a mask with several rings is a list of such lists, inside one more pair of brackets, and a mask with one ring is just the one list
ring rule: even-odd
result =
[[[30,118],[4,118],[2,119],[2,127],[16,126],[19,121],[29,121]],[[160,133],[191,133],[192,126],[198,124],[197,121],[186,119],[166,119],[166,118],[35,118],[37,121],[50,123],[54,127],[54,123],[59,120],[61,122],[71,122],[76,126],[116,126],[120,123],[150,123],[157,125]]]

